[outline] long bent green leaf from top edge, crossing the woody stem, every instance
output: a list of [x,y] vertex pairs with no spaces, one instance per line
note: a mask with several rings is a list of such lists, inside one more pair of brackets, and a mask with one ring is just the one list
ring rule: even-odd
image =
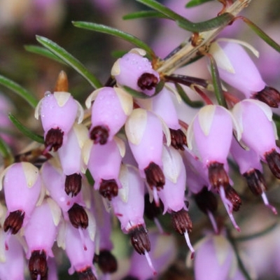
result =
[[186,18],[183,18],[178,13],[175,13],[173,10],[170,10],[166,6],[162,5],[158,1],[155,0],[136,0],[144,5],[153,8],[154,10],[158,10],[159,13],[165,15],[167,18],[171,20],[175,20],[179,27],[186,29],[188,31],[193,32],[202,32],[208,31],[211,29],[215,29],[217,27],[222,27],[228,25],[232,22],[234,16],[230,13],[224,13],[223,15],[218,15],[216,18],[212,18],[211,20],[206,20],[204,22],[190,22]]

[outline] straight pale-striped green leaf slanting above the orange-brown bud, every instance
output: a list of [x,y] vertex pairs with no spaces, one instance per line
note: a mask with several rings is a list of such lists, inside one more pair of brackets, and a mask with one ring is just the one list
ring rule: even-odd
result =
[[75,69],[81,76],[83,76],[83,78],[85,78],[85,80],[90,83],[90,85],[92,85],[92,87],[102,87],[102,83],[94,75],[92,75],[92,73],[90,73],[90,71],[88,71],[85,66],[80,61],[78,61],[78,59],[73,57],[73,55],[67,52],[64,48],[57,45],[57,43],[52,42],[50,39],[42,36],[37,35],[36,39],[39,43],[41,43],[41,45],[50,50],[50,52],[54,53],[66,64]]

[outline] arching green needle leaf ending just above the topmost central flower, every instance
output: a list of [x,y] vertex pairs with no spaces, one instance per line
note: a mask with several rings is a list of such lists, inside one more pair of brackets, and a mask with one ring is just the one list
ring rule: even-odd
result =
[[122,38],[125,41],[128,41],[132,43],[133,45],[136,45],[138,48],[142,48],[148,52],[151,56],[154,55],[153,50],[143,41],[141,41],[139,38],[128,34],[124,31],[120,31],[119,29],[113,28],[113,27],[108,27],[106,25],[99,25],[94,22],[73,22],[73,25],[78,28],[83,28],[83,29],[88,29],[91,31],[97,31],[109,35],[116,36],[118,38]]

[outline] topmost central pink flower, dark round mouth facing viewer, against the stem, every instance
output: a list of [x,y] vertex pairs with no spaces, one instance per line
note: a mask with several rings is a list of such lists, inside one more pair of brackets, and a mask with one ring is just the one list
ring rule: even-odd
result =
[[130,50],[113,64],[111,75],[116,78],[120,87],[131,87],[151,96],[155,93],[160,75],[153,69],[153,65],[144,57],[145,55],[145,50],[139,48]]

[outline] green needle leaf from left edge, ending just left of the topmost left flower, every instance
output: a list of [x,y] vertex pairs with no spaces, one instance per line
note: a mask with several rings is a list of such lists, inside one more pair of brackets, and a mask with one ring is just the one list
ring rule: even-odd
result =
[[8,87],[8,89],[20,95],[20,97],[25,99],[25,101],[33,108],[35,108],[38,104],[38,100],[30,92],[25,90],[25,88],[19,85],[18,83],[15,83],[13,80],[10,80],[9,78],[0,75],[0,84],[4,87]]

